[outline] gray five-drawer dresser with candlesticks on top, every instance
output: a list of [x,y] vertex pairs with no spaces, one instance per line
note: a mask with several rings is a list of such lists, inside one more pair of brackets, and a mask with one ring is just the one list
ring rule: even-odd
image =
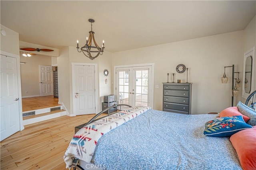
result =
[[163,83],[163,111],[191,114],[192,83]]

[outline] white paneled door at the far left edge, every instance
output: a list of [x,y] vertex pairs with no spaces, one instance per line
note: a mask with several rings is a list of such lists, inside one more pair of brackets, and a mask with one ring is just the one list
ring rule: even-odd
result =
[[17,59],[1,55],[1,141],[20,130]]

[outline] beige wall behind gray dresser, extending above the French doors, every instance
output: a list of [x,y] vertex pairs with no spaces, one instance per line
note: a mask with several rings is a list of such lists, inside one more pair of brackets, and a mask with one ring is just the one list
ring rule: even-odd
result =
[[[155,63],[154,87],[159,88],[154,88],[154,109],[158,110],[162,110],[162,82],[167,81],[167,73],[175,73],[175,81],[186,82],[186,72],[176,72],[178,64],[185,64],[189,68],[188,82],[193,83],[192,114],[219,112],[231,106],[231,81],[222,84],[220,77],[224,66],[232,64],[235,71],[242,72],[243,38],[243,31],[236,31],[156,45],[114,53],[112,61],[113,66]],[[226,74],[230,77],[232,69],[227,68]]]

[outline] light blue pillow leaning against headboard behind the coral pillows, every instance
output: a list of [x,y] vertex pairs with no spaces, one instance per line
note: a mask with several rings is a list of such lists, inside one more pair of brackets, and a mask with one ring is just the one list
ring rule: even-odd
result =
[[250,120],[247,122],[251,126],[256,126],[256,111],[246,106],[242,102],[237,104],[238,111],[243,115],[250,117]]

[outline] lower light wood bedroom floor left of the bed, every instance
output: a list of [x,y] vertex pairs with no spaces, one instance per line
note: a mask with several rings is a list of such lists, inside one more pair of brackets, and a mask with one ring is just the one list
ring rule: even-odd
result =
[[94,115],[62,116],[26,125],[23,131],[0,142],[0,169],[66,169],[63,156],[74,136],[74,127]]

